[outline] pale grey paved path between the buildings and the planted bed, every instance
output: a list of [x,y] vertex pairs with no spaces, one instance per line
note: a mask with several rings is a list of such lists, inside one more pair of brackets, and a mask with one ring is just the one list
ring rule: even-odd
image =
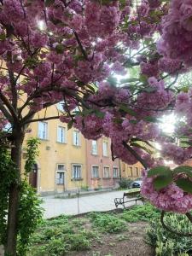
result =
[[[103,194],[87,195],[79,198],[57,199],[44,197],[44,218],[53,218],[61,214],[76,215],[84,212],[105,212],[115,209],[114,198],[122,197],[124,191],[106,192]],[[140,202],[138,202],[140,203]],[[126,207],[134,205],[135,202],[126,204]]]

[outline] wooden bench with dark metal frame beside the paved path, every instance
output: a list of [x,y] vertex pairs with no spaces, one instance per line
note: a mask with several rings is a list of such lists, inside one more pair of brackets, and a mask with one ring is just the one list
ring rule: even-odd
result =
[[[132,198],[132,196],[137,196],[137,197]],[[131,202],[131,201],[135,201],[136,205],[137,205],[137,201],[143,201],[143,196],[140,195],[140,190],[126,192],[124,193],[123,197],[115,198],[114,205],[116,208],[119,206],[123,206],[125,208],[125,203]]]

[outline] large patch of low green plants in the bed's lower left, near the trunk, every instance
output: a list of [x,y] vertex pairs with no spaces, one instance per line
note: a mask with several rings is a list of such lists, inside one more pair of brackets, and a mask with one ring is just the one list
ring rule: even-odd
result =
[[95,231],[81,228],[80,224],[84,221],[66,216],[44,221],[32,236],[30,255],[57,256],[90,249],[90,242],[96,240],[98,235]]

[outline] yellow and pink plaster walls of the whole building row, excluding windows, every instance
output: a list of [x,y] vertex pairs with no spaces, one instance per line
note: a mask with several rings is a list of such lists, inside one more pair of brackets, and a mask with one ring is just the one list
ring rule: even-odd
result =
[[[46,116],[58,115],[56,106],[52,106],[46,110]],[[44,118],[45,110],[41,111],[34,119]],[[67,130],[67,124],[61,123],[59,119],[51,119],[46,121],[48,125],[48,136],[46,139],[40,139],[39,155],[36,160],[38,166],[37,173],[37,190],[39,194],[55,194],[64,191],[72,191],[89,187],[90,189],[112,188],[119,184],[119,177],[136,178],[141,176],[142,166],[140,164],[127,166],[118,159],[112,160],[110,140],[102,137],[96,141],[96,154],[92,152],[92,141],[85,140],[80,134],[80,145],[73,145],[74,128]],[[65,143],[57,142],[57,127],[65,128]],[[38,137],[38,122],[34,122],[28,127],[31,132],[26,133],[26,140],[29,137]],[[103,143],[108,143],[108,155],[103,154]],[[26,141],[24,147],[26,147]],[[119,165],[120,163],[120,165]],[[25,150],[23,150],[22,166],[25,165]],[[64,165],[64,183],[57,184],[58,165]],[[81,166],[81,178],[73,179],[73,165]],[[98,166],[99,176],[93,177],[92,167]],[[109,177],[104,177],[104,167],[109,168]],[[113,167],[118,168],[117,177],[113,177]],[[131,172],[132,168],[132,172]],[[138,168],[138,169],[136,169]],[[137,171],[138,170],[138,171]],[[36,172],[36,171],[35,171]],[[31,173],[32,174],[32,173]],[[31,175],[30,174],[30,175]],[[31,176],[30,176],[31,177]]]

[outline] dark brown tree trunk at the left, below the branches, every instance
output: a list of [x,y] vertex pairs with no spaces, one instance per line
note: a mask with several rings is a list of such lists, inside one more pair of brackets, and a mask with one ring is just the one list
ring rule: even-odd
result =
[[5,255],[16,255],[18,207],[20,203],[20,172],[21,172],[21,150],[24,135],[21,131],[13,131],[15,138],[13,148],[11,149],[11,159],[17,167],[17,180],[12,183],[9,189],[9,211],[8,211],[8,229],[7,244],[5,245]]

